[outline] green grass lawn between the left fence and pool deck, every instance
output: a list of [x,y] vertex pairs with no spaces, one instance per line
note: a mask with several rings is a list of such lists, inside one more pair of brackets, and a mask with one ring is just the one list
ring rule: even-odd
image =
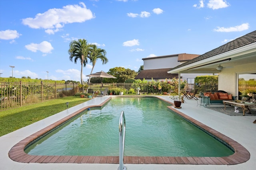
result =
[[68,107],[73,107],[87,100],[90,99],[80,98],[80,96],[70,96],[30,106],[0,111],[0,136],[67,109],[66,102],[69,102]]

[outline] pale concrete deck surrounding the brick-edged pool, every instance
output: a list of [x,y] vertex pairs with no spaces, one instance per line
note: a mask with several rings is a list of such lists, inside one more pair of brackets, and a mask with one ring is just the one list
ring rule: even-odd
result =
[[[0,169],[1,170],[45,170],[45,169],[97,169],[115,170],[119,164],[70,164],[70,163],[20,163],[8,157],[9,150],[21,140],[40,131],[41,129],[55,123],[56,121],[78,111],[82,107],[95,106],[107,100],[110,96],[94,98],[78,106],[66,109],[46,119],[33,123],[27,127],[18,129],[12,133],[0,137]],[[164,100],[171,101],[168,96],[159,96]],[[171,101],[172,102],[172,101]],[[224,107],[224,106],[223,106]],[[240,143],[250,152],[250,159],[247,162],[236,165],[194,165],[194,164],[125,164],[127,169],[254,169],[256,167],[256,124],[252,123],[256,116],[229,116],[223,113],[210,110],[197,105],[196,100],[186,100],[178,111],[200,121],[201,123],[215,129],[216,131],[230,137]]]

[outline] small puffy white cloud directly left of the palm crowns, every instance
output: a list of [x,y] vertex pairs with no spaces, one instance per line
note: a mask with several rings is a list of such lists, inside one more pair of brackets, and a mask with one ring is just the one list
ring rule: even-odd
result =
[[52,53],[51,51],[53,50],[51,43],[47,41],[43,41],[40,44],[31,43],[29,45],[25,45],[25,47],[30,51],[41,51],[42,53]]

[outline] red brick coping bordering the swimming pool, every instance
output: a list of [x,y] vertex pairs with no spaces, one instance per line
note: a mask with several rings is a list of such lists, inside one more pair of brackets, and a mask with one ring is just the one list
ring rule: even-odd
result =
[[[124,96],[122,96],[124,97]],[[128,96],[131,97],[131,96]],[[144,96],[140,96],[144,97]],[[145,96],[148,97],[148,96]],[[156,96],[154,96],[156,97]],[[157,97],[159,98],[159,97]],[[90,107],[102,107],[104,106],[109,100],[108,98],[100,105],[92,105],[86,106],[78,111],[60,119],[59,121],[45,127],[44,129],[26,137],[8,152],[9,157],[16,161],[22,163],[97,163],[97,164],[119,164],[119,156],[39,156],[39,155],[29,155],[24,152],[26,146],[31,143],[32,141],[36,140],[38,137],[46,134],[48,131],[54,129],[55,127],[65,123],[72,117],[78,115],[80,112],[90,108]],[[159,98],[173,106],[173,103]],[[174,111],[184,119],[190,121],[194,125],[198,126],[199,128],[204,129],[207,133],[210,133],[212,136],[217,137],[218,139],[222,140],[224,143],[229,145],[234,149],[234,154],[230,156],[223,156],[223,157],[182,157],[182,156],[124,156],[124,164],[211,164],[211,165],[234,165],[246,162],[250,159],[250,153],[247,149],[245,149],[242,145],[238,142],[230,139],[226,135],[196,121],[192,117],[185,115],[184,113],[180,112],[174,107],[168,106],[168,109]]]

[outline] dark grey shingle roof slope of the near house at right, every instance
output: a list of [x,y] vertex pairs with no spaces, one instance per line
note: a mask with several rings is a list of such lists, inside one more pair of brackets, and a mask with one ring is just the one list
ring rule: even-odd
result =
[[208,59],[210,57],[214,57],[216,55],[219,55],[219,54],[225,53],[227,51],[231,51],[231,50],[234,50],[234,49],[237,49],[237,48],[240,48],[240,47],[243,47],[245,45],[249,45],[249,44],[252,44],[255,42],[256,42],[256,31],[252,31],[251,33],[248,33],[242,37],[239,37],[233,41],[230,41],[216,49],[213,49],[212,51],[204,53],[203,55],[200,55],[186,63],[180,64],[170,70],[180,68],[182,66],[186,66],[188,64],[192,64],[192,63],[204,60],[204,59]]

